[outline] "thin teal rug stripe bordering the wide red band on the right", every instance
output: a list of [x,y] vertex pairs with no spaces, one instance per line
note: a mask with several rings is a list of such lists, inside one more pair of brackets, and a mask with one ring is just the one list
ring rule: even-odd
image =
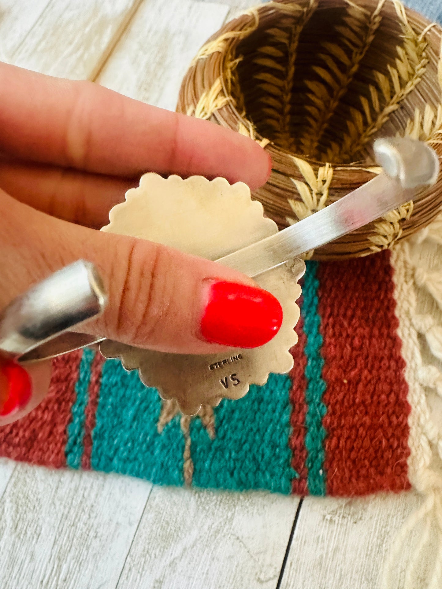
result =
[[321,317],[318,314],[318,286],[316,278],[318,262],[306,264],[304,277],[304,304],[302,305],[302,317],[304,318],[304,332],[306,335],[305,378],[307,388],[305,400],[308,406],[305,416],[305,447],[307,450],[306,466],[308,468],[308,490],[312,495],[325,495],[325,470],[324,470],[324,439],[325,429],[322,419],[326,413],[326,406],[322,402],[322,395],[326,389],[325,380],[322,379],[324,358],[321,355],[322,335],[319,333]]

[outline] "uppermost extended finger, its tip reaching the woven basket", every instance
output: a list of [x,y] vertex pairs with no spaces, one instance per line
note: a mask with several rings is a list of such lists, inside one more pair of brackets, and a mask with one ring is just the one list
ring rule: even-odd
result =
[[271,171],[248,137],[92,82],[0,64],[0,104],[0,147],[22,159],[116,176],[223,176],[252,189]]

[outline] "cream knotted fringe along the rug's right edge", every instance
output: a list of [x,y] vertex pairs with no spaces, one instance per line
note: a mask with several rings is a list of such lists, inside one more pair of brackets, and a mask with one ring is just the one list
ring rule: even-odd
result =
[[416,568],[433,541],[434,530],[437,553],[425,583],[436,589],[442,584],[442,423],[434,417],[435,405],[442,411],[442,214],[415,237],[398,244],[391,256],[411,405],[408,478],[423,501],[395,538],[382,570],[382,587],[393,586],[394,565],[404,542],[420,528],[404,588],[417,587]]

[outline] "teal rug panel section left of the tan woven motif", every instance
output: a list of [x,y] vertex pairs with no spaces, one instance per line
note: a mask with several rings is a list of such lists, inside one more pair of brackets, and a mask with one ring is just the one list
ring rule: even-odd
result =
[[158,431],[160,396],[143,385],[138,370],[107,360],[92,435],[94,470],[146,478],[160,485],[183,485],[184,436],[180,416]]

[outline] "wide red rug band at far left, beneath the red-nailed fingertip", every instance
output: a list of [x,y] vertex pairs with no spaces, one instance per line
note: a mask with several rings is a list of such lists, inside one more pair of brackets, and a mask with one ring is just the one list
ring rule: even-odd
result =
[[81,350],[53,360],[48,395],[29,415],[0,428],[0,456],[60,468],[75,401]]

